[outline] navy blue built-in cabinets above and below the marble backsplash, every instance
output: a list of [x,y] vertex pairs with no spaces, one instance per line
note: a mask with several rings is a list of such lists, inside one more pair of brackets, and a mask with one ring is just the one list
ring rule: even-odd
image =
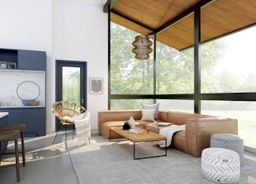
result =
[[[40,74],[46,86],[46,52],[36,50],[13,50],[0,49],[0,61],[16,63],[15,74]],[[0,74],[6,73],[6,70],[0,69]],[[26,73],[27,72],[27,73]],[[9,75],[11,72],[8,73]],[[11,79],[9,79],[10,81]],[[32,79],[31,79],[32,80]],[[6,90],[1,88],[1,90]],[[15,89],[16,90],[16,89]],[[10,89],[9,89],[10,91]],[[46,92],[46,89],[43,91]],[[8,93],[8,90],[6,90]],[[16,94],[15,94],[16,95]],[[44,102],[39,106],[0,106],[0,112],[8,112],[8,124],[26,124],[25,136],[46,135],[46,94],[42,94]],[[3,99],[5,100],[5,99]],[[1,102],[1,98],[0,98]],[[7,103],[7,102],[6,102]],[[5,104],[6,104],[5,103]],[[8,103],[10,104],[10,103]]]

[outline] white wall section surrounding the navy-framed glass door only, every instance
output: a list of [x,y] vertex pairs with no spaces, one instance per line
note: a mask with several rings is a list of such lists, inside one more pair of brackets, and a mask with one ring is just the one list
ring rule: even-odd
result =
[[[55,0],[53,6],[52,73],[55,72],[55,59],[86,61],[87,82],[90,77],[103,78],[103,94],[87,93],[87,109],[92,129],[98,128],[98,110],[107,109],[108,15],[103,13],[105,2],[106,0]],[[54,86],[53,82],[52,93]],[[89,90],[89,86],[87,89]]]

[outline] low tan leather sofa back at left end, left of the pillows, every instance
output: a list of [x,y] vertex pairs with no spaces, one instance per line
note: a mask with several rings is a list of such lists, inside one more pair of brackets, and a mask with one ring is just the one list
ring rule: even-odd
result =
[[128,121],[130,116],[135,120],[142,118],[142,110],[104,110],[98,111],[98,133],[101,133],[101,124],[104,122]]

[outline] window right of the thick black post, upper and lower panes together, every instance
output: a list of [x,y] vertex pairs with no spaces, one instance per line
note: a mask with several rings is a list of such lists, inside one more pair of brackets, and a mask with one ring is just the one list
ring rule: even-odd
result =
[[[209,44],[216,57],[202,58],[202,93],[250,93],[256,92],[256,26],[230,34]],[[208,53],[202,52],[202,55]],[[210,65],[209,65],[210,63]],[[209,65],[209,66],[208,66]],[[232,95],[232,94],[230,94]],[[256,148],[256,102],[202,101],[202,114],[212,114],[238,119],[238,135],[245,146]]]

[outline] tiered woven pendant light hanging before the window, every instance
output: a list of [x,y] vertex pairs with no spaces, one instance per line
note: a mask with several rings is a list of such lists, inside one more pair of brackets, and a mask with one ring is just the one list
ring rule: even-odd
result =
[[150,53],[153,51],[150,46],[152,42],[150,38],[146,35],[138,35],[135,37],[135,41],[132,43],[134,49],[132,50],[135,54],[135,58],[138,60],[145,60],[150,58]]

